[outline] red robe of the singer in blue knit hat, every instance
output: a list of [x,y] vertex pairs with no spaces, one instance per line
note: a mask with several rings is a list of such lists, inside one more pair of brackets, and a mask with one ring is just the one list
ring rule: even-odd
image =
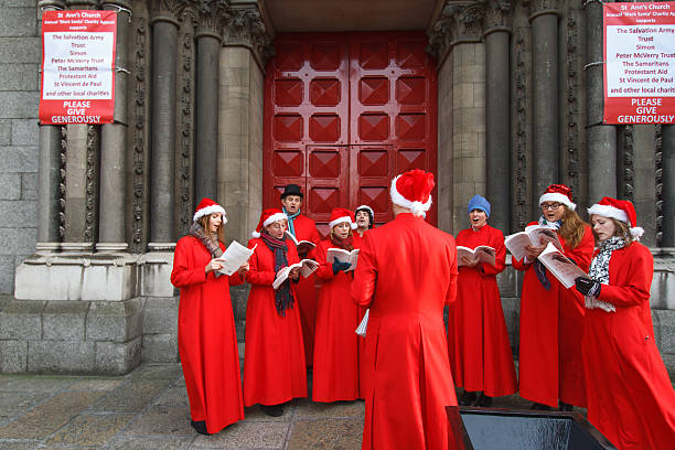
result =
[[457,386],[490,397],[517,390],[515,365],[504,321],[496,275],[504,270],[504,234],[490,225],[463,229],[457,245],[495,249],[495,266],[459,267],[457,301],[450,307],[448,353]]

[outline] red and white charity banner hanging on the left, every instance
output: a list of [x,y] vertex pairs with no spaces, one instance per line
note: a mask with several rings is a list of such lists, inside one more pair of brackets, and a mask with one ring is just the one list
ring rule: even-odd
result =
[[115,11],[42,13],[40,124],[110,124],[115,113]]

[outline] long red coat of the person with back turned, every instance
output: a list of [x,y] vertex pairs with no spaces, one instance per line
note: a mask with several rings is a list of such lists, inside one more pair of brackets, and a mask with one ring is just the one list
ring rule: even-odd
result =
[[352,299],[369,307],[363,449],[448,449],[457,406],[443,307],[454,301],[457,248],[447,233],[401,213],[364,234]]

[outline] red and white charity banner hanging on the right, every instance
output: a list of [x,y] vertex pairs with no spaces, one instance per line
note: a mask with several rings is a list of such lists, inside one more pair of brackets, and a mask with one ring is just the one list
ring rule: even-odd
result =
[[606,124],[675,124],[675,2],[603,3]]

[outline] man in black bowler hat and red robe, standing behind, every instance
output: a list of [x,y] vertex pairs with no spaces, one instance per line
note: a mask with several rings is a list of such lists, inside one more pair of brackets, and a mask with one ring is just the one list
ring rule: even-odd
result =
[[[288,184],[281,194],[282,211],[288,216],[288,232],[296,240],[308,240],[314,246],[321,240],[314,221],[300,214],[302,206],[302,191],[297,184]],[[299,245],[298,256],[300,259],[313,259],[313,246]],[[317,298],[314,276],[301,277],[296,286],[296,296],[300,320],[302,323],[302,339],[304,341],[304,357],[308,366],[312,365],[314,355],[314,325],[317,322]]]

